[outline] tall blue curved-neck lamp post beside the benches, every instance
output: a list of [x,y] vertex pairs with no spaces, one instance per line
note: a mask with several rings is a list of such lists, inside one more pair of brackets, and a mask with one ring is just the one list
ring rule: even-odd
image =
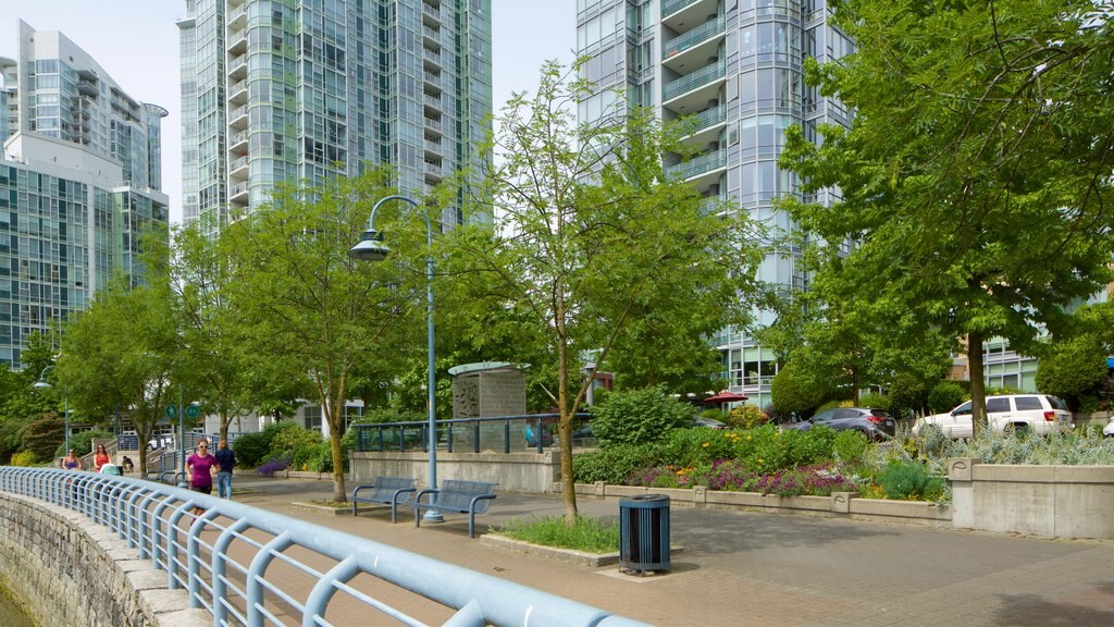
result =
[[[382,261],[390,254],[391,249],[383,243],[379,231],[375,231],[375,213],[379,212],[379,208],[387,201],[402,201],[410,203],[413,208],[420,206],[418,201],[399,194],[380,199],[371,208],[371,216],[368,219],[368,230],[360,237],[360,241],[349,249],[349,257],[352,259],[360,261]],[[426,405],[429,409],[429,488],[437,489],[437,413],[434,412],[437,382],[433,374],[433,226],[430,224],[428,213],[419,213],[426,220],[426,245],[428,247],[426,257],[426,339],[429,345],[429,382],[427,383],[429,397]],[[430,499],[432,503],[437,502],[436,494],[431,494]],[[441,517],[441,512],[430,509],[426,511],[422,520],[427,522],[442,522],[444,519]]]

